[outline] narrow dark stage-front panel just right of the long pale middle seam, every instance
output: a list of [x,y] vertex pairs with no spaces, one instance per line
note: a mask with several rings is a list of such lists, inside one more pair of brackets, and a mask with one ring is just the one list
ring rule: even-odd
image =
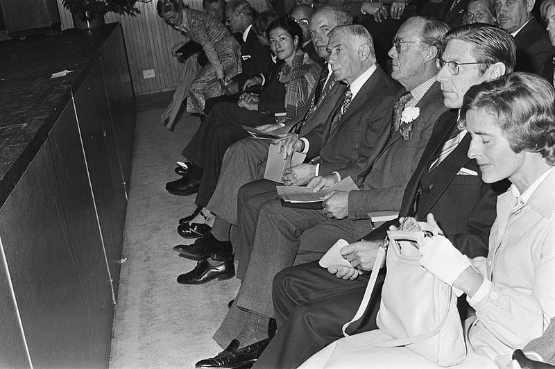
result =
[[99,62],[75,92],[74,102],[110,275],[117,280],[127,203]]

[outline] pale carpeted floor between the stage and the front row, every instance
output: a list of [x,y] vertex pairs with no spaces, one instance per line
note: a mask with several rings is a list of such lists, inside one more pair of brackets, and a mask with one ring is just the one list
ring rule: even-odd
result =
[[239,280],[185,286],[176,277],[196,261],[173,251],[191,243],[176,232],[178,219],[194,209],[194,195],[173,196],[176,160],[198,127],[182,114],[171,132],[160,123],[171,93],[137,98],[137,129],[123,239],[110,368],[194,368],[222,349],[212,334],[239,289]]

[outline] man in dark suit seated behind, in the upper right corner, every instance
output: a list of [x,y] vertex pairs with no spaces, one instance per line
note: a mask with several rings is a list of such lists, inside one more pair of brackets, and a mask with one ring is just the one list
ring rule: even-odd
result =
[[545,28],[532,15],[534,0],[495,0],[497,22],[515,38],[515,71],[528,71],[552,81],[555,48]]

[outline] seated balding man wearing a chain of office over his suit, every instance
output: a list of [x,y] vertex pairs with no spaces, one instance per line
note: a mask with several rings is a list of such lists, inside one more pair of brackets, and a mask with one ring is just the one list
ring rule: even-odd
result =
[[[336,8],[324,7],[316,11],[310,19],[310,31],[314,49],[318,55],[327,60],[326,46],[329,40],[328,33],[336,26],[351,24],[352,17],[347,13]],[[281,124],[271,124],[264,127],[265,130],[273,129],[274,132],[288,133],[291,130],[306,135],[310,130],[326,121],[334,112],[334,105],[345,93],[345,83],[335,78],[331,65],[326,62],[318,83],[309,96],[311,103],[305,105],[296,119]],[[237,192],[239,188],[248,182],[258,180],[263,177],[266,168],[266,157],[270,141],[263,139],[247,138],[237,141],[228,148],[223,157],[222,171],[214,189],[214,194],[210,198],[207,209],[214,214],[214,225],[210,231],[212,236],[218,241],[229,241],[232,225],[237,225]],[[200,226],[182,222],[178,226],[178,233],[182,237],[189,237],[189,234],[198,232]],[[230,244],[228,244],[229,247]],[[178,245],[174,250],[179,251],[183,246]],[[211,259],[208,262],[212,263]],[[221,264],[221,263],[218,263]],[[232,263],[226,264],[226,274],[232,273],[234,267]],[[223,273],[223,271],[222,271]],[[185,273],[178,277],[178,282],[183,284],[202,284],[209,282],[217,277],[207,276],[207,269],[196,270],[195,273]]]

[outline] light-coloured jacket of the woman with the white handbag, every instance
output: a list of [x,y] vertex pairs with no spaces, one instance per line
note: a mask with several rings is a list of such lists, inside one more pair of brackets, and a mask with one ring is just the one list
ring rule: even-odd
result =
[[507,191],[497,200],[490,234],[488,293],[468,302],[478,319],[469,339],[477,353],[504,366],[517,348],[541,336],[555,316],[555,171],[524,206]]

